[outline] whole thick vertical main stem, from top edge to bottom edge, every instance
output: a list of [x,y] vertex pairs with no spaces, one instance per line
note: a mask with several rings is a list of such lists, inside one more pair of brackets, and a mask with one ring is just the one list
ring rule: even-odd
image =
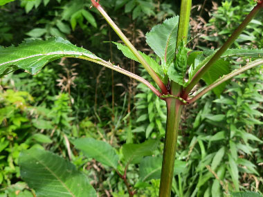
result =
[[[179,18],[179,29],[177,33],[176,48],[180,41],[188,39],[188,27],[192,0],[182,0]],[[180,96],[182,86],[171,81],[170,94]],[[174,177],[174,160],[176,154],[177,135],[181,120],[182,103],[174,98],[167,98],[167,122],[165,132],[165,144],[163,149],[163,165],[159,197],[170,197],[172,190],[172,178]]]

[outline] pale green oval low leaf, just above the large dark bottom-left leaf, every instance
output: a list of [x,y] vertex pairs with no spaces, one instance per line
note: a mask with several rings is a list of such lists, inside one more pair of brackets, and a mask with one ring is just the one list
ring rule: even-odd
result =
[[109,167],[118,166],[118,155],[116,150],[107,142],[95,140],[93,138],[80,138],[73,142],[76,149],[80,149],[88,158],[94,158],[103,165]]

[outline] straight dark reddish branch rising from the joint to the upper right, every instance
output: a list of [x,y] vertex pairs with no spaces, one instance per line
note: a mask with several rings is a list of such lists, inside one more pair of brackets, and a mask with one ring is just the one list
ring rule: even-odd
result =
[[194,75],[190,84],[185,88],[185,91],[183,91],[184,99],[188,97],[188,94],[190,93],[190,91],[192,91],[192,88],[195,86],[195,84],[199,82],[201,77],[203,77],[203,75],[211,68],[212,64],[214,64],[217,61],[217,59],[219,59],[221,55],[223,55],[223,53],[233,44],[237,37],[239,37],[239,35],[243,32],[248,23],[255,17],[255,15],[257,15],[257,13],[263,7],[262,4],[262,2],[257,3],[257,6],[255,6],[255,8],[251,10],[249,15],[242,22],[242,24],[240,24],[239,27],[235,30],[235,32],[233,32],[233,35],[231,35],[226,41],[226,43],[223,46],[221,46],[219,50],[217,50],[217,53],[215,53],[215,55],[210,59],[210,61],[205,66],[203,66],[203,68],[201,68],[197,72],[197,74]]

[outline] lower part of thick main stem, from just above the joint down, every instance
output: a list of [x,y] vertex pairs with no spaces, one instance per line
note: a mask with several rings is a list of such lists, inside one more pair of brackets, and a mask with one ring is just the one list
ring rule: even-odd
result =
[[[178,96],[181,86],[171,83],[171,94]],[[181,117],[182,103],[175,98],[167,98],[167,123],[165,132],[165,143],[163,150],[163,165],[161,171],[161,182],[159,197],[170,197],[172,190],[172,178],[174,177],[174,160],[176,153],[177,135]]]

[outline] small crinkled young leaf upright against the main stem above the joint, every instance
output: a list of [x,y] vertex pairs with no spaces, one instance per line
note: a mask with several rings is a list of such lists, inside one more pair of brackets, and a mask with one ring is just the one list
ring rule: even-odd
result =
[[174,64],[169,66],[167,72],[168,77],[181,86],[187,85],[185,84],[185,73],[187,70],[187,53],[188,49],[185,47],[185,42],[182,39],[177,48]]

